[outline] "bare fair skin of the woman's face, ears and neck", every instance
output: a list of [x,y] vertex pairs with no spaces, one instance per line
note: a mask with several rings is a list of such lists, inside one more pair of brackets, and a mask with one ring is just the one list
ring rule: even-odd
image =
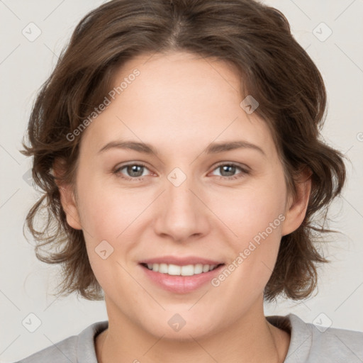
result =
[[[118,70],[115,86],[135,68],[140,75],[79,136],[76,197],[72,186],[60,186],[67,222],[84,230],[106,296],[109,325],[96,338],[97,359],[283,362],[289,333],[267,323],[263,290],[281,236],[303,221],[311,180],[301,177],[293,201],[269,128],[240,106],[241,78],[228,63],[186,52],[141,55]],[[121,139],[150,143],[157,155],[116,148],[98,154]],[[253,143],[264,154],[252,148],[203,152],[212,142],[232,140]],[[113,173],[129,162],[147,165],[138,174],[142,180],[127,168]],[[218,162],[250,172],[228,174]],[[179,186],[167,178],[175,167],[186,176]],[[284,221],[218,287],[173,294],[140,267],[142,259],[165,255],[227,265],[280,214]],[[107,259],[95,252],[102,240],[113,247]],[[178,332],[168,324],[175,313],[186,321]]]

